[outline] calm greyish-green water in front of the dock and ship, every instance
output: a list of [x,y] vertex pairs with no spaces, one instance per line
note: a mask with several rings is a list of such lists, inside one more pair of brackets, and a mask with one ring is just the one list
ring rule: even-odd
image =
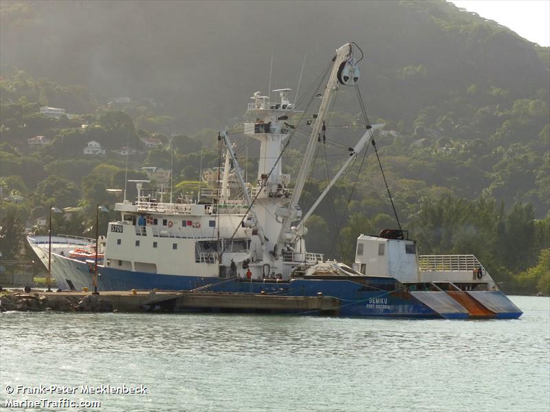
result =
[[[519,320],[8,312],[1,406],[69,398],[99,400],[90,411],[547,412],[550,299],[511,299]],[[79,393],[101,384],[148,393]],[[7,385],[79,388],[28,396]]]

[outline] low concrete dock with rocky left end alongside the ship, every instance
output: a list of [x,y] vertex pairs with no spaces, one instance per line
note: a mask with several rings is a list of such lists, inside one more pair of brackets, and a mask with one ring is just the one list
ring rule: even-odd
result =
[[246,312],[340,314],[334,297],[252,295],[202,291],[108,291],[9,293],[1,310],[63,312]]

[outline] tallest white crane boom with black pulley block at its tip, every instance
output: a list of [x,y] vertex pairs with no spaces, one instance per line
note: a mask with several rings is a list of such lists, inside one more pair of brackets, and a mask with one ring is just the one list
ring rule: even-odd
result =
[[302,211],[298,205],[298,202],[300,201],[300,196],[302,196],[307,175],[311,169],[318,140],[320,139],[321,129],[324,126],[324,119],[336,95],[335,92],[338,91],[340,84],[353,85],[357,82],[358,78],[359,70],[355,66],[352,46],[351,43],[347,43],[336,50],[336,56],[333,58],[331,74],[327,82],[327,87],[325,88],[325,94],[322,96],[322,102],[318,111],[316,122],[313,130],[311,130],[311,135],[309,136],[305,157],[303,159],[300,171],[298,172],[290,202],[288,205],[280,207],[277,211],[278,216],[283,220],[283,224],[281,225],[281,231],[279,232],[278,239],[274,245],[274,257],[278,257],[281,253],[281,249],[285,242],[288,242],[296,236],[296,233],[294,233],[295,231],[291,230],[291,224],[295,220],[302,217]]

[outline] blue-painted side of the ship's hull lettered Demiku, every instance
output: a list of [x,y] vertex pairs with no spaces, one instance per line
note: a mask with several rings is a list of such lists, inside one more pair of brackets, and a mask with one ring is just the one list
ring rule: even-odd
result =
[[[390,277],[362,277],[363,283],[350,279],[293,279],[290,282],[267,280],[247,282],[239,279],[218,279],[199,276],[162,275],[121,271],[103,267],[100,290],[160,289],[193,290],[225,293],[267,293],[281,296],[331,296],[340,299],[340,315],[344,317],[406,317],[467,319],[467,310],[448,297],[447,305],[436,310],[405,290],[397,290],[399,282]],[[369,286],[366,286],[366,283]],[[380,286],[380,287],[377,287]],[[445,295],[446,296],[446,295]]]

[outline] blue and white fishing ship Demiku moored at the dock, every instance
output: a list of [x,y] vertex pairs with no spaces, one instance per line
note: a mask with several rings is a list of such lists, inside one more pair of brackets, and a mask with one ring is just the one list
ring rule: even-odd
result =
[[115,204],[120,218],[109,222],[98,250],[95,240],[63,236],[52,237],[52,253],[47,236],[29,236],[32,249],[46,265],[51,259],[52,276],[69,290],[324,296],[338,299],[340,315],[349,317],[520,317],[473,255],[418,256],[416,242],[401,229],[360,236],[352,266],[307,251],[307,219],[383,126],[365,125],[347,161],[303,213],[300,197],[324,144],[331,104],[340,89],[356,87],[360,78],[362,56],[356,58],[356,51],[355,43],[347,43],[333,56],[323,93],[315,96],[318,112],[307,120],[311,132],[294,184],[283,174],[282,155],[305,113],[290,100],[291,89],[272,91],[275,102],[256,92],[243,126],[244,135],[260,144],[252,183],[244,179],[229,134],[221,131],[225,164],[210,174],[213,182],[197,198],[164,202],[162,194],[136,181],[137,197]]

